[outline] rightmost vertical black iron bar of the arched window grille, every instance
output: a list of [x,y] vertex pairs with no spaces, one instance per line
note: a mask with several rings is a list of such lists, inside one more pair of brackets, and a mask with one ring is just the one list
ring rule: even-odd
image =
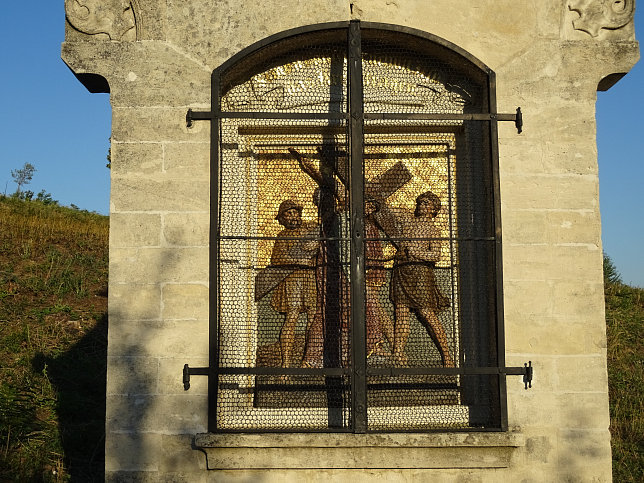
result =
[[[494,72],[488,73],[489,82],[489,103],[490,112],[496,113],[496,76]],[[497,367],[505,367],[505,331],[504,331],[504,314],[503,314],[503,257],[501,243],[501,187],[499,177],[499,133],[498,121],[492,118],[489,122],[490,129],[490,162],[492,163],[492,182],[494,206],[494,260],[496,265],[496,274],[494,283],[496,286],[496,344],[497,344]],[[499,417],[502,431],[508,429],[508,405],[506,400],[506,375],[499,374]]]

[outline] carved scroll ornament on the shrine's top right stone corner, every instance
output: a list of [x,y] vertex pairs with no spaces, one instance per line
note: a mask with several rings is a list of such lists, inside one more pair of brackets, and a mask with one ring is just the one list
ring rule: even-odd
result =
[[570,0],[568,8],[579,14],[573,27],[597,37],[601,29],[620,29],[632,21],[635,0]]

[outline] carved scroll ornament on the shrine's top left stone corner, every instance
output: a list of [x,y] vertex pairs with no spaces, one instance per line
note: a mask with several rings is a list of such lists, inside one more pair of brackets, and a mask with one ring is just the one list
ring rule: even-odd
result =
[[88,35],[136,40],[137,18],[131,0],[65,0],[67,21]]

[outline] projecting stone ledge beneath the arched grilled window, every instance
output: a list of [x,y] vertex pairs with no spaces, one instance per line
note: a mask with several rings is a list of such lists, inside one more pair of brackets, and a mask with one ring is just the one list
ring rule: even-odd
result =
[[209,470],[507,468],[519,433],[197,434]]

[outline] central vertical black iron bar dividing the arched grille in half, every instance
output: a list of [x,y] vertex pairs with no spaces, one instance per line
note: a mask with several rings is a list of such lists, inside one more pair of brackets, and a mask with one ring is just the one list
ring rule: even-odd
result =
[[349,24],[349,133],[351,176],[351,334],[353,430],[367,430],[367,334],[364,255],[364,104],[360,22]]

